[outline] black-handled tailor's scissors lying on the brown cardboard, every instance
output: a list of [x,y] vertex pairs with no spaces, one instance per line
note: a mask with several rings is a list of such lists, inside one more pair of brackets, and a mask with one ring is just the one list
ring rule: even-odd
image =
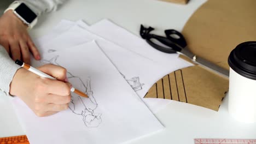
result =
[[141,37],[146,39],[147,43],[154,47],[156,50],[165,53],[179,53],[190,58],[193,62],[214,71],[215,73],[229,77],[229,70],[223,69],[218,65],[207,61],[206,59],[197,57],[194,55],[194,53],[189,51],[187,41],[180,32],[174,29],[167,29],[165,30],[166,37],[162,37],[160,35],[150,34],[150,32],[153,30],[154,28],[152,27],[146,28],[141,25],[140,34]]

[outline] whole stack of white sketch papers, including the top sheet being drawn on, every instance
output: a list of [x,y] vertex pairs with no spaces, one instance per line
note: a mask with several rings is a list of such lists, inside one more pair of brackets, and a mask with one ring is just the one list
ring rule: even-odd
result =
[[65,67],[72,85],[89,98],[72,93],[68,110],[43,118],[14,99],[31,143],[121,143],[158,131],[163,127],[144,102],[156,111],[170,101],[142,98],[162,76],[190,65],[109,20],[93,26],[63,20],[36,45],[42,61],[32,65]]

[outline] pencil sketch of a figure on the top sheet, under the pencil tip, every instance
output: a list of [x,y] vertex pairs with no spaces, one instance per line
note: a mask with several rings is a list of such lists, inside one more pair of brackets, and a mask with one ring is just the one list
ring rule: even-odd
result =
[[[55,56],[49,60],[42,60],[41,63],[51,63],[55,65],[60,65],[57,63],[57,58],[59,56]],[[69,109],[75,114],[80,115],[83,118],[83,122],[86,127],[98,127],[98,125],[102,122],[102,114],[95,112],[98,104],[96,99],[94,98],[94,92],[91,89],[91,79],[90,77],[83,82],[82,79],[78,76],[74,76],[73,74],[67,71],[67,78],[72,85],[83,91],[88,95],[89,98],[83,98],[79,95],[72,93],[71,102],[69,103]]]

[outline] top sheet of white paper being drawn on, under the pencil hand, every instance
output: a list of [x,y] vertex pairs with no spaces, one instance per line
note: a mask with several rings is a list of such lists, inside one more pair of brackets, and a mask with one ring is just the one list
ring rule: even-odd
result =
[[44,53],[42,63],[67,68],[90,99],[72,93],[68,110],[39,118],[15,98],[31,143],[120,143],[163,128],[95,42]]

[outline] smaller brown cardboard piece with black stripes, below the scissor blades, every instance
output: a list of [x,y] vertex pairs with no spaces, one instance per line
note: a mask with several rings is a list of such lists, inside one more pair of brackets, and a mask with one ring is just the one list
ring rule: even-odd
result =
[[218,111],[228,84],[227,79],[195,65],[162,77],[144,98],[171,99]]

